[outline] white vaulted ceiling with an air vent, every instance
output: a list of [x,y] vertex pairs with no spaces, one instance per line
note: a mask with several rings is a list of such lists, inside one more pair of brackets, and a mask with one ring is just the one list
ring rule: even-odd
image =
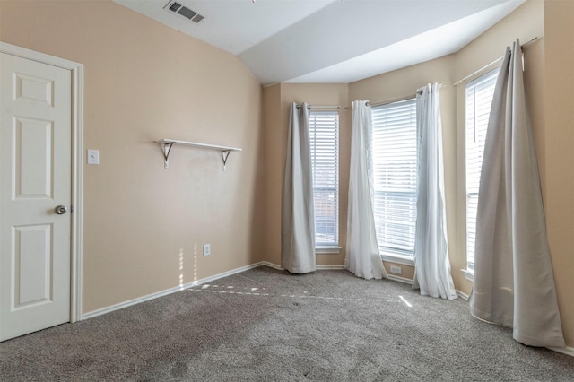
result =
[[[354,82],[457,52],[526,0],[168,0],[116,3],[238,56],[259,82]],[[172,0],[173,1],[173,0]]]

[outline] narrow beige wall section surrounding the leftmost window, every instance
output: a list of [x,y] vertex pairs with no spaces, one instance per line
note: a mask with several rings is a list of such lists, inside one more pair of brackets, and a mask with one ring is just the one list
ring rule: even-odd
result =
[[317,254],[317,265],[343,265],[347,237],[347,194],[351,153],[351,110],[346,84],[281,83],[265,88],[265,195],[267,261],[281,265],[281,194],[291,103],[340,106],[339,254]]

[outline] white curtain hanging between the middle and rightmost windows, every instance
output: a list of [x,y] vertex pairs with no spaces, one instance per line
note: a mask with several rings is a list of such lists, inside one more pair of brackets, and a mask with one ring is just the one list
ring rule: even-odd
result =
[[413,289],[423,296],[456,299],[448,260],[447,219],[440,84],[428,84],[417,91],[418,170],[416,227],[414,231]]

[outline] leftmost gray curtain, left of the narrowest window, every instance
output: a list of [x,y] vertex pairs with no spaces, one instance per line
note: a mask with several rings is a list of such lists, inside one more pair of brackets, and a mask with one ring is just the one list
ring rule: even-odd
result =
[[315,204],[309,105],[291,104],[287,156],[283,172],[281,266],[291,273],[315,271]]

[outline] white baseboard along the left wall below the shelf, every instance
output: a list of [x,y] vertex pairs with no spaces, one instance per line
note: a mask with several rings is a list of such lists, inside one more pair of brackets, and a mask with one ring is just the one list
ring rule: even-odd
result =
[[183,290],[186,290],[188,288],[195,287],[196,285],[204,284],[206,282],[213,282],[213,281],[221,279],[223,277],[227,277],[227,276],[230,276],[230,275],[233,275],[236,273],[245,272],[245,271],[248,271],[249,269],[257,268],[258,266],[261,266],[261,265],[267,265],[267,266],[270,266],[270,267],[275,268],[275,269],[281,269],[281,267],[278,267],[278,265],[274,265],[274,264],[268,263],[266,261],[261,261],[259,263],[255,263],[252,265],[241,266],[239,268],[232,269],[232,270],[227,271],[227,272],[214,274],[213,276],[205,277],[204,279],[197,280],[195,282],[187,282],[186,284],[178,285],[177,287],[166,289],[165,291],[158,291],[156,293],[148,294],[147,296],[139,297],[137,299],[127,300],[124,302],[120,302],[119,304],[111,305],[111,306],[106,307],[106,308],[100,308],[97,310],[93,310],[91,312],[84,313],[80,319],[88,319],[88,318],[92,318],[92,317],[98,317],[101,315],[105,315],[106,313],[113,312],[114,310],[117,310],[117,309],[131,307],[132,305],[140,304],[140,303],[145,302],[145,301],[154,300],[154,299],[157,299],[159,297],[167,296],[171,293],[175,293],[177,291],[183,291]]

